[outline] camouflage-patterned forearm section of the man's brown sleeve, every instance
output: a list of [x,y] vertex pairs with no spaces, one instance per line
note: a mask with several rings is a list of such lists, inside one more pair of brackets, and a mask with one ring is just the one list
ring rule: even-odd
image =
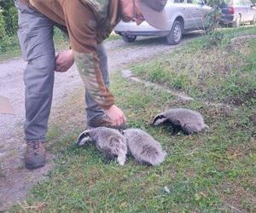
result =
[[85,89],[88,89],[93,99],[103,108],[113,105],[113,95],[109,93],[102,81],[101,72],[96,73],[95,55],[92,53],[79,53],[73,51],[80,77],[84,82]]

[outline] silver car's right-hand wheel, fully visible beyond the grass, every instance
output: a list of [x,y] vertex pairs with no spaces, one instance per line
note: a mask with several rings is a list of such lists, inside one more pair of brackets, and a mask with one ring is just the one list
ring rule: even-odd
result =
[[171,45],[176,45],[177,43],[180,43],[182,36],[183,36],[182,23],[178,20],[175,20],[170,34],[166,37],[166,41]]

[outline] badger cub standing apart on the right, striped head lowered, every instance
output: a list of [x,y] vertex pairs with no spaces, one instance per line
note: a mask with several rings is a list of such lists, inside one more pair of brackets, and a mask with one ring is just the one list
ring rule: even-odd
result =
[[171,124],[174,131],[173,135],[177,134],[179,130],[190,135],[209,128],[201,113],[184,108],[170,109],[158,114],[154,117],[152,125],[158,126],[160,124]]

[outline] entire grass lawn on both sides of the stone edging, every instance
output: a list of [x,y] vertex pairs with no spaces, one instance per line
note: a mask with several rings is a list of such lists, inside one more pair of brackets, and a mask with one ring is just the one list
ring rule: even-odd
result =
[[[76,147],[83,100],[71,101],[71,121],[55,119],[49,130],[55,169],[10,212],[255,212],[256,42],[241,39],[207,50],[201,43],[200,38],[172,55],[131,66],[140,78],[184,91],[196,101],[177,101],[164,89],[112,76],[118,106],[132,127],[160,141],[168,153],[163,164],[147,167],[128,158],[121,167],[106,164],[95,147]],[[156,113],[171,107],[201,112],[210,129],[173,136],[172,129],[149,125]],[[68,128],[68,122],[77,123]]]

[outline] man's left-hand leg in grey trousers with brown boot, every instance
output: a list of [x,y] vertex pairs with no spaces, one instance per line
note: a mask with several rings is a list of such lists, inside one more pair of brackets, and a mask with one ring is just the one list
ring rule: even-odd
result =
[[24,72],[27,141],[26,167],[35,169],[45,164],[44,141],[52,101],[55,49],[53,22],[26,5],[16,2],[19,12],[20,48],[27,61]]

